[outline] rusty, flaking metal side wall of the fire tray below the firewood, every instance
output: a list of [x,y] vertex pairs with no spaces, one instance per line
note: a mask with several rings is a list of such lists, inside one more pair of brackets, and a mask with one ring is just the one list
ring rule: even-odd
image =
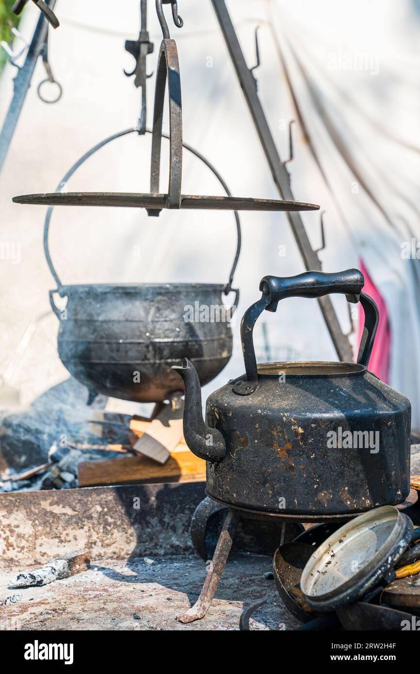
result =
[[92,559],[189,553],[203,497],[202,482],[0,494],[0,568],[83,549]]

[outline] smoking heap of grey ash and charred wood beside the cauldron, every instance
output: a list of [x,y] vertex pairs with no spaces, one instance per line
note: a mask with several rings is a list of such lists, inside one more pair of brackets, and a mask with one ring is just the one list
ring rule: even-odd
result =
[[107,397],[87,400],[87,389],[70,377],[25,410],[1,412],[0,492],[78,487],[80,462],[129,452],[122,423],[120,432],[115,425],[104,431],[96,421]]

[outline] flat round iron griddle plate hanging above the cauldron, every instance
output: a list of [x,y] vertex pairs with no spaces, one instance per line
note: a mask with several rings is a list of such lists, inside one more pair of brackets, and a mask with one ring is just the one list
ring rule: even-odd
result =
[[[15,204],[39,204],[41,206],[129,206],[162,210],[169,208],[167,194],[144,194],[140,192],[47,192],[22,194],[13,197]],[[181,195],[179,208],[207,210],[258,210],[258,211],[304,211],[318,210],[316,204],[290,202],[276,199],[252,199],[247,197],[211,197]],[[177,209],[176,209],[177,210]]]

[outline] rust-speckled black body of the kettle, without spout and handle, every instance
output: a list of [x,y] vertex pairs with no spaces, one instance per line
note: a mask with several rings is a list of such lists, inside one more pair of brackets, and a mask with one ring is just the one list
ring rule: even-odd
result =
[[269,363],[258,381],[252,409],[232,384],[208,398],[206,422],[226,438],[224,458],[207,463],[210,497],[324,515],[409,495],[411,404],[402,394],[355,363]]

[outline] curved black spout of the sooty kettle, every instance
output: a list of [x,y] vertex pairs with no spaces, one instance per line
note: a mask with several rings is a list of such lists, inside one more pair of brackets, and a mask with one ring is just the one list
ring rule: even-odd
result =
[[226,453],[226,442],[220,431],[204,423],[202,415],[202,390],[196,368],[187,358],[182,365],[173,365],[173,370],[183,378],[185,404],[183,431],[187,446],[200,459],[217,462]]

